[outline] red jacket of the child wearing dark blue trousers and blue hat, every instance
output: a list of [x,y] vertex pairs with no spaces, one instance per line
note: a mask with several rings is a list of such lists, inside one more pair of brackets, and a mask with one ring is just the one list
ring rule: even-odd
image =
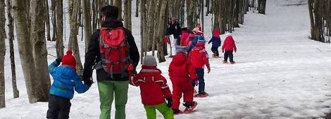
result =
[[204,43],[196,43],[196,46],[189,53],[189,61],[191,61],[193,68],[204,68],[204,65],[210,67]]

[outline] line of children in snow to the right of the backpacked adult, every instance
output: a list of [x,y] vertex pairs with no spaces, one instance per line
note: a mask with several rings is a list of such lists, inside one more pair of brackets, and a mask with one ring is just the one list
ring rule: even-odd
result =
[[[131,85],[139,86],[142,97],[142,104],[146,110],[148,119],[156,118],[156,110],[163,114],[165,119],[172,119],[173,114],[190,113],[196,108],[197,102],[194,97],[207,97],[204,83],[204,66],[207,72],[211,71],[208,61],[208,53],[205,50],[204,33],[201,26],[197,26],[192,33],[185,28],[182,31],[180,45],[177,47],[176,55],[173,56],[169,65],[169,77],[173,84],[173,93],[167,85],[167,80],[161,75],[154,56],[146,56],[143,59],[142,70],[130,80]],[[219,30],[213,31],[211,41],[213,46],[213,57],[218,58],[218,47],[220,47]],[[237,48],[235,41],[230,33],[227,34],[222,46],[222,52],[225,51],[223,63],[227,63],[227,57],[230,57],[230,63],[234,64],[232,52]],[[199,92],[194,94],[194,86],[199,85]],[[180,99],[183,96],[184,111],[180,111]],[[171,110],[172,109],[172,110]]]

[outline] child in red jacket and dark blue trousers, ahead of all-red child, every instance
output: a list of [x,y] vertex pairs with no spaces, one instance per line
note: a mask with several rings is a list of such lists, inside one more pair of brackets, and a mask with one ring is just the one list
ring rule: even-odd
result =
[[208,93],[205,92],[204,65],[207,66],[208,73],[211,71],[211,66],[209,64],[208,53],[206,52],[204,45],[205,41],[198,41],[196,46],[189,53],[189,61],[191,61],[192,67],[198,74],[199,80],[199,94],[196,94],[195,97],[208,96]]

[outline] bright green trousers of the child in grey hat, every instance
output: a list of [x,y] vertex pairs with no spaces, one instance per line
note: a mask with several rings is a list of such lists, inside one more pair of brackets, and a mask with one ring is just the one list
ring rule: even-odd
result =
[[174,119],[173,110],[170,109],[165,103],[155,105],[155,106],[144,106],[146,110],[147,119],[156,119],[156,110],[162,113],[164,119]]

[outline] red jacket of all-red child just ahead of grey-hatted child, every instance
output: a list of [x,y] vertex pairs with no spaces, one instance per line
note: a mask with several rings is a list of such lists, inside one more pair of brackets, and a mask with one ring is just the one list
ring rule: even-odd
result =
[[171,80],[173,80],[173,77],[192,80],[198,78],[195,70],[187,59],[188,57],[184,53],[178,53],[175,57],[173,57],[173,61],[171,61],[169,66],[169,77]]

